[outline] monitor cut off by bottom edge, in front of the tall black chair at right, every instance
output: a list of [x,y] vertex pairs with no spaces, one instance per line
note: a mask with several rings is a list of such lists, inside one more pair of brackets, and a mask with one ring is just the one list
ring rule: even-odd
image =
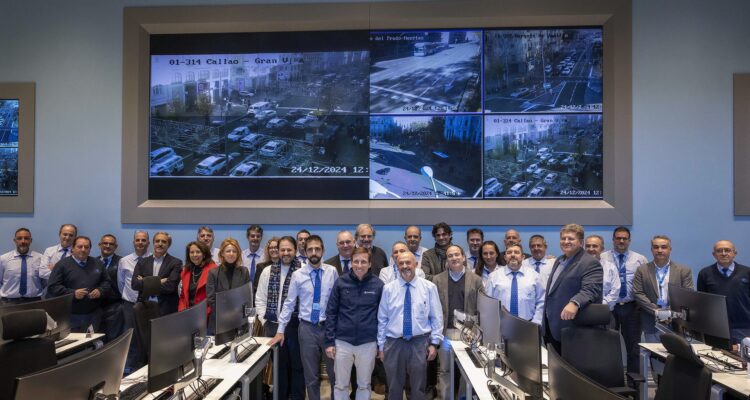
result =
[[621,400],[604,386],[586,378],[557,354],[554,347],[547,346],[549,363],[549,397],[551,399],[575,400]]

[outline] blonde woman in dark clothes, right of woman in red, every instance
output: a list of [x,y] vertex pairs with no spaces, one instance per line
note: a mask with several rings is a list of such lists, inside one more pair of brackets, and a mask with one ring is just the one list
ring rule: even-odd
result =
[[[234,289],[250,282],[250,271],[242,266],[240,257],[240,244],[235,239],[227,238],[221,242],[219,247],[219,266],[208,273],[208,306],[213,309],[216,306],[216,293]],[[208,328],[214,331],[216,316],[211,313],[208,320]]]

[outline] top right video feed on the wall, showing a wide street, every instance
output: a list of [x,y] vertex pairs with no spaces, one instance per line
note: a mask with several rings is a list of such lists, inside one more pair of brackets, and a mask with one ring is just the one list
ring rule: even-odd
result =
[[601,112],[602,29],[488,30],[486,112]]

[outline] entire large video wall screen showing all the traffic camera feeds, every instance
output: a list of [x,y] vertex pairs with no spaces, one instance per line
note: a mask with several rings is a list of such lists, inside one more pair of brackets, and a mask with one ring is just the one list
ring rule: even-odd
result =
[[602,29],[151,35],[149,198],[602,198]]

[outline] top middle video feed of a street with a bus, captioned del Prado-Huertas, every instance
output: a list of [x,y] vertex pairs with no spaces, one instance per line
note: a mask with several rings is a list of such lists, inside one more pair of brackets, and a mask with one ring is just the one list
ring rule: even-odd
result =
[[370,34],[370,112],[481,111],[482,32]]

